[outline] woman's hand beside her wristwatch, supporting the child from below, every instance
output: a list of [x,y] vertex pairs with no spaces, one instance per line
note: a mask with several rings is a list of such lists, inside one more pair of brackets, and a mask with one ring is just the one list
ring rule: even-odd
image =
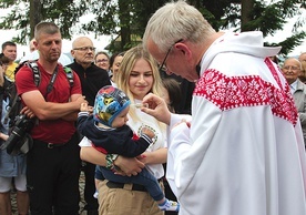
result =
[[114,161],[114,165],[120,167],[120,170],[116,170],[115,174],[128,176],[137,175],[142,168],[144,168],[144,164],[135,157],[118,156]]

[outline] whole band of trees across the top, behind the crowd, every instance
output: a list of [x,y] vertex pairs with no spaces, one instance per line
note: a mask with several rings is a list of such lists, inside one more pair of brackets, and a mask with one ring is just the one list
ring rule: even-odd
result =
[[[41,11],[31,11],[30,3],[40,1]],[[0,20],[0,29],[16,29],[19,34],[13,40],[26,44],[33,29],[30,28],[30,14],[40,12],[41,19],[53,21],[64,39],[71,39],[74,33],[93,32],[96,37],[109,34],[113,42],[110,51],[122,51],[140,42],[146,22],[151,14],[170,0],[0,0],[1,9],[10,12]],[[293,27],[293,35],[279,44],[283,54],[288,53],[305,38],[303,29],[306,18],[300,16],[305,9],[305,0],[271,0],[271,3],[254,0],[249,21],[242,27],[241,0],[190,0],[215,30],[241,29],[263,31],[264,37],[274,35],[282,30],[286,20],[294,16],[300,19]],[[83,17],[91,20],[80,23]],[[279,45],[272,43],[269,45]]]

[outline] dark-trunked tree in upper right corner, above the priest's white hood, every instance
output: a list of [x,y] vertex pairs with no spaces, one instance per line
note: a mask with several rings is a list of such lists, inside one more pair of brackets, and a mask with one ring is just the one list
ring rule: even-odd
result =
[[[241,31],[259,30],[264,37],[274,35],[283,30],[286,20],[302,16],[305,10],[304,0],[279,0],[271,4],[264,1],[242,0]],[[296,45],[299,45],[306,35],[303,29],[303,20],[298,20],[293,27],[293,34],[279,43],[265,43],[268,47],[280,45],[280,54],[286,57]]]

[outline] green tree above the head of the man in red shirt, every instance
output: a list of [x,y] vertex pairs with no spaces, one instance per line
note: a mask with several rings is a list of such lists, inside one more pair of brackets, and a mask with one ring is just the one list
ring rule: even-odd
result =
[[73,27],[80,17],[86,14],[90,2],[73,0],[0,0],[0,9],[10,9],[2,18],[0,29],[14,29],[19,34],[13,41],[26,44],[32,37],[34,25],[40,21],[53,21],[63,38],[71,39],[72,33],[79,32]]

